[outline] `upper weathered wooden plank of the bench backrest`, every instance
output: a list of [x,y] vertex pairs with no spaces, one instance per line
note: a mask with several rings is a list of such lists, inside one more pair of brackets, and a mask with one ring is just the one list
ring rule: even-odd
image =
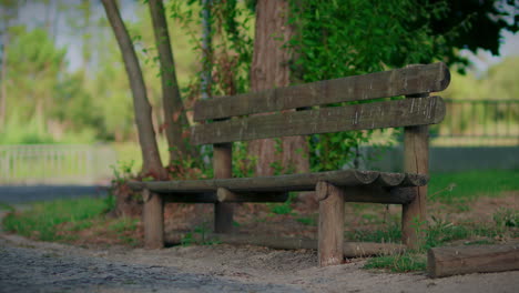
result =
[[337,102],[438,92],[445,90],[449,82],[450,73],[444,63],[414,65],[199,101],[194,108],[194,120],[203,121]]

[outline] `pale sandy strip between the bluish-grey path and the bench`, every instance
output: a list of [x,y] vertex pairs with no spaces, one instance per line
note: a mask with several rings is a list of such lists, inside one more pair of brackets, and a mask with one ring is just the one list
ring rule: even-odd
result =
[[[313,251],[281,251],[226,244],[175,246],[155,251],[132,250],[123,246],[82,249],[65,244],[31,241],[4,233],[0,234],[0,249],[3,251],[9,247],[23,247],[26,253],[27,250],[32,250],[44,253],[42,255],[78,256],[90,261],[102,260],[102,262],[133,266],[135,270],[144,270],[139,267],[171,269],[174,270],[171,271],[171,274],[179,275],[179,272],[181,272],[184,277],[211,276],[218,280],[218,282],[241,284],[238,291],[246,292],[519,292],[519,271],[469,274],[434,280],[424,273],[395,274],[363,270],[360,267],[364,265],[364,260],[350,260],[349,263],[343,265],[317,267],[317,255]],[[60,260],[61,265],[63,265],[63,262],[67,262],[67,259]],[[41,269],[44,270],[44,267]],[[170,271],[166,270],[163,274],[167,274],[167,272]],[[30,275],[26,277],[30,279]],[[83,277],[88,277],[88,275]],[[194,280],[194,282],[200,282],[202,279],[195,277]],[[139,282],[139,279],[135,282]],[[172,279],[171,282],[172,290],[175,287],[175,282],[183,281]],[[150,286],[123,286],[118,289],[98,284],[93,291],[149,292],[152,291]],[[197,286],[195,284],[193,284],[193,289],[197,290],[187,290],[185,292],[234,291],[232,290],[234,287],[222,286],[218,290],[214,286]],[[167,290],[154,290],[167,292]],[[0,289],[0,292],[8,291]],[[177,292],[184,291],[179,290]]]

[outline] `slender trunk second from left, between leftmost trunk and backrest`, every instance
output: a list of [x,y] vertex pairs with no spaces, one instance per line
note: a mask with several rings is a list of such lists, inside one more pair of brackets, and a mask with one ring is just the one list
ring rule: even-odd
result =
[[175,61],[164,14],[164,4],[162,0],[150,0],[149,3],[161,64],[164,131],[170,146],[171,164],[189,154],[190,150],[185,141],[187,138],[185,140],[182,138],[183,129],[189,125],[189,122],[176,80]]

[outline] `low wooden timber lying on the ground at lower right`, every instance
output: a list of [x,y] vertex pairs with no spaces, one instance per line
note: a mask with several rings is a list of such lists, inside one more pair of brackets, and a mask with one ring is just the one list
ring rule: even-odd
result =
[[427,253],[431,277],[519,270],[519,243],[435,247]]

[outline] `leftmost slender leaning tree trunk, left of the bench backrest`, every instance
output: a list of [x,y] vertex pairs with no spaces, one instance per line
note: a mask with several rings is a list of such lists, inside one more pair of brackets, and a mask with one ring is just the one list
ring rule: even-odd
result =
[[135,50],[121,19],[115,1],[102,0],[102,3],[121,49],[128,79],[132,89],[133,110],[135,112],[135,123],[143,159],[142,172],[144,175],[164,180],[167,178],[167,173],[162,166],[161,155],[156,145],[155,131],[153,130],[151,117],[152,109],[146,97],[146,87]]

